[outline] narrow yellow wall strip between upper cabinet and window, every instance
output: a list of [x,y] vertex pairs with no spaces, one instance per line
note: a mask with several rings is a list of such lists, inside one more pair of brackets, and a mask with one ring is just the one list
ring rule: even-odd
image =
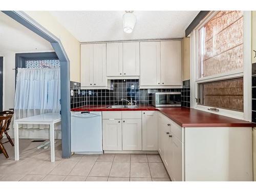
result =
[[183,45],[182,45],[182,80],[190,79],[190,38],[184,37],[183,38]]

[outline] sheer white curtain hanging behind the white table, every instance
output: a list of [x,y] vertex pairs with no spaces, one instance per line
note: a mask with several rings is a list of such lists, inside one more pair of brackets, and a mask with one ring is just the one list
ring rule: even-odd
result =
[[[60,68],[18,68],[14,119],[60,111]],[[48,125],[20,125],[47,128]]]

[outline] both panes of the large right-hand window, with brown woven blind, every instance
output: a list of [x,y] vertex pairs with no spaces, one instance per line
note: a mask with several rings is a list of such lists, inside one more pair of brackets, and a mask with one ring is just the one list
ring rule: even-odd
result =
[[198,29],[198,104],[243,112],[243,23],[218,11]]

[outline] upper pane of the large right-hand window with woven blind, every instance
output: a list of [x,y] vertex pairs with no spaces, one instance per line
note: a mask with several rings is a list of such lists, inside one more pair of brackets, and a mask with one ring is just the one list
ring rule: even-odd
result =
[[201,29],[200,77],[243,68],[243,12],[219,11]]

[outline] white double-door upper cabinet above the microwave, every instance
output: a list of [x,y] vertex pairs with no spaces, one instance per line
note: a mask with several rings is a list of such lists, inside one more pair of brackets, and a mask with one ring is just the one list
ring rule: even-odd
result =
[[182,86],[181,41],[140,42],[140,88]]

